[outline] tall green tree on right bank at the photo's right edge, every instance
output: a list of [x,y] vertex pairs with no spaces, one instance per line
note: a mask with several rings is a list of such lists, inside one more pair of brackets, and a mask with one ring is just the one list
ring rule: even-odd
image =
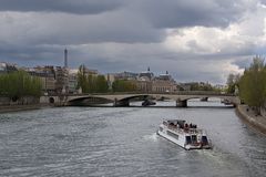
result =
[[255,58],[239,81],[239,97],[260,114],[266,101],[266,67],[264,61]]

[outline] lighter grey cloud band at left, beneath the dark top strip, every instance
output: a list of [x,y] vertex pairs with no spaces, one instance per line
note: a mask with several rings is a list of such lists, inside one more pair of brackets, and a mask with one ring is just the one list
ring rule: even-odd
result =
[[8,13],[0,15],[0,40],[23,44],[150,43],[165,38],[164,30],[124,11],[98,15]]

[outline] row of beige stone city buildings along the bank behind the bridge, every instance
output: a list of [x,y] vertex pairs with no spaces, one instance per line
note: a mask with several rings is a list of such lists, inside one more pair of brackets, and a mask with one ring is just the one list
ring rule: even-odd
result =
[[[66,64],[66,62],[65,62]],[[84,66],[84,65],[83,65]],[[14,71],[24,70],[30,75],[40,77],[42,82],[42,91],[44,94],[78,94],[82,93],[78,87],[78,69],[69,69],[65,66],[35,66],[35,67],[19,67],[16,64],[0,62],[0,74],[11,73]],[[91,70],[84,66],[82,69],[83,74],[89,76],[98,76],[100,73],[98,70]],[[211,86],[208,83],[176,83],[168,72],[155,76],[147,71],[141,73],[121,72],[116,74],[105,74],[110,91],[112,84],[116,80],[126,80],[135,84],[136,92],[142,93],[174,93],[180,91],[195,91],[195,87]],[[217,88],[225,90],[225,86],[217,85]]]

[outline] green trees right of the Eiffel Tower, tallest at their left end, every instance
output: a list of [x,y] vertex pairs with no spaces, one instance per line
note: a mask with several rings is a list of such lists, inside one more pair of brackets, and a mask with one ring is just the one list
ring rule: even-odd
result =
[[78,87],[81,87],[83,93],[106,93],[109,91],[105,77],[103,75],[88,75],[84,65],[79,67]]

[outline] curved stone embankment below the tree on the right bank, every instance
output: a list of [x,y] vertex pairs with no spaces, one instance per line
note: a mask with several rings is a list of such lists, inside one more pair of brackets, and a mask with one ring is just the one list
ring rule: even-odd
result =
[[248,126],[266,135],[266,117],[256,115],[247,105],[238,105],[236,113]]

